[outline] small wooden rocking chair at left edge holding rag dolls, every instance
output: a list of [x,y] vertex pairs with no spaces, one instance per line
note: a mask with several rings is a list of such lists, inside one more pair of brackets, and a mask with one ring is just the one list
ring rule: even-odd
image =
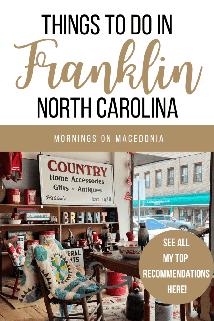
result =
[[16,291],[19,291],[19,289],[17,289],[17,285],[18,285],[19,279],[22,278],[22,276],[20,276],[19,267],[23,267],[24,265],[15,265],[11,255],[10,255],[10,253],[8,251],[8,248],[7,248],[8,243],[12,243],[14,245],[14,242],[15,242],[18,245],[17,240],[18,240],[17,236],[14,236],[13,239],[9,239],[9,240],[5,240],[4,238],[2,238],[3,247],[7,251],[7,254],[8,254],[10,260],[11,260],[11,263],[12,263],[13,268],[14,268],[15,273],[16,273],[16,281],[15,281],[14,286],[4,285],[5,287],[7,287],[9,289],[12,289],[13,290],[13,294],[7,294],[7,293],[4,293],[4,292],[0,291],[0,295],[3,295],[4,297],[7,297],[7,298],[17,299],[18,300],[18,297],[15,296],[15,293],[16,293]]

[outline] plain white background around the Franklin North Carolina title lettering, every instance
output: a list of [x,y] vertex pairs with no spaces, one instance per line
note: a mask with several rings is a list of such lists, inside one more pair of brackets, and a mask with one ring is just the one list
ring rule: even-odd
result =
[[[177,1],[113,1],[102,2],[94,0],[83,1],[12,1],[2,4],[1,18],[1,118],[4,119],[4,125],[212,125],[212,89],[213,89],[213,2],[205,0],[201,4],[195,1],[181,0]],[[59,22],[59,14],[72,14],[74,21],[78,14],[78,20],[82,14],[87,14],[89,20],[91,15],[98,14],[100,20],[94,21],[99,25],[98,35],[82,35],[78,27],[78,35],[75,35],[71,28],[71,35],[60,35],[59,27],[56,26],[56,34],[52,34],[52,17],[48,18],[48,34],[45,34],[45,18],[42,14],[55,14],[56,23]],[[108,18],[105,14],[114,14],[112,18],[112,32],[108,35]],[[125,32],[123,35],[116,34],[115,18],[116,15],[123,14],[125,17]],[[141,18],[149,14],[152,19],[152,31],[149,35],[140,32],[138,35],[131,34],[131,14],[138,14]],[[165,27],[165,35],[158,35],[158,14],[165,14],[169,22],[169,15],[172,15],[172,35],[169,35]],[[83,20],[85,21],[85,20]],[[119,18],[121,22],[121,18]],[[79,21],[80,23],[80,21]],[[89,21],[89,28],[96,28]],[[64,24],[62,28],[64,32]],[[85,30],[83,28],[83,30]],[[119,24],[119,30],[121,26]],[[147,30],[147,27],[146,27]],[[104,70],[102,67],[98,82],[92,83],[91,78],[81,89],[75,89],[73,80],[70,82],[61,82],[56,89],[48,87],[49,67],[39,68],[34,66],[33,76],[29,86],[25,89],[18,89],[15,86],[16,80],[21,76],[18,84],[23,86],[26,80],[30,47],[17,49],[16,46],[24,46],[31,42],[41,39],[55,39],[58,43],[56,48],[53,41],[43,41],[39,43],[37,54],[40,51],[46,53],[45,65],[56,63],[56,73],[54,84],[58,82],[61,76],[62,68],[67,62],[83,63],[80,83],[82,83],[90,73],[93,65],[99,66],[103,62],[109,62],[111,65],[111,86],[113,86],[117,75],[117,64],[120,50],[124,42],[133,39],[136,45],[131,59],[124,65],[136,65],[134,75],[134,84],[136,85],[142,75],[142,64],[145,50],[150,41],[158,39],[160,41],[160,53],[155,63],[149,68],[149,88],[152,87],[158,73],[160,65],[165,66],[164,84],[166,84],[172,74],[175,65],[181,66],[185,62],[191,62],[193,65],[192,88],[197,81],[200,68],[203,67],[201,78],[193,94],[189,95],[185,91],[186,67],[184,67],[180,81],[171,82],[169,86],[161,90],[158,84],[154,90],[146,95],[142,84],[133,90],[129,86],[129,77],[124,76],[122,83],[117,83],[114,91],[107,95],[103,90]],[[131,53],[127,53],[127,56]],[[157,52],[157,45],[151,57],[153,61]],[[160,58],[165,57],[165,61]],[[40,64],[43,56],[39,57]],[[36,63],[36,62],[35,62]],[[131,71],[132,68],[129,68]],[[69,77],[73,74],[74,67],[69,69]],[[70,102],[70,118],[60,115],[56,118],[47,118],[41,115],[37,117],[37,98],[40,97],[44,102],[45,98],[49,101],[55,97],[68,98]],[[85,117],[81,118],[81,100],[77,102],[77,118],[74,118],[73,102],[71,97],[84,98],[84,105],[88,106],[88,98],[91,98],[91,118],[88,118],[86,111]],[[97,116],[97,100],[103,97],[107,101],[106,110],[108,112],[111,98],[115,98],[119,118],[115,114],[111,117],[99,118]],[[120,98],[131,99],[138,97],[145,99],[145,114],[150,118],[123,117],[120,118],[119,102]],[[159,117],[151,118],[152,98],[159,98],[163,103],[166,98],[166,110],[168,111],[171,98],[175,99],[178,118],[170,115],[169,118],[163,118],[159,111]],[[101,113],[103,113],[103,104]],[[135,108],[136,113],[136,108]],[[42,113],[41,113],[42,114]],[[53,107],[54,114],[54,107]],[[75,133],[73,133],[75,134]]]

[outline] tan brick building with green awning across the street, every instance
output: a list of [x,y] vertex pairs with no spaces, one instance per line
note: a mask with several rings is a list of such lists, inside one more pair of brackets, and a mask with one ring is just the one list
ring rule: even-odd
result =
[[146,184],[141,215],[169,214],[172,206],[175,217],[205,224],[209,217],[210,152],[135,166],[134,178],[144,178]]

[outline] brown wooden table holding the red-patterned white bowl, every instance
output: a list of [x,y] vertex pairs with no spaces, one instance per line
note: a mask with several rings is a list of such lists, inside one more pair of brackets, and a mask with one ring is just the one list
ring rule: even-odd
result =
[[[112,254],[103,254],[102,252],[92,252],[90,255],[95,256],[95,261],[102,263],[106,269],[111,271],[124,273],[136,278],[141,278],[139,273],[139,260],[131,260],[124,258],[119,251],[113,251]],[[101,267],[101,266],[100,266]],[[100,267],[96,265],[96,281],[100,283]],[[133,284],[132,284],[133,285]],[[133,287],[129,289],[129,293],[133,291]],[[150,321],[150,293],[144,290],[145,300],[145,321]],[[181,321],[185,320],[186,305],[181,304]]]

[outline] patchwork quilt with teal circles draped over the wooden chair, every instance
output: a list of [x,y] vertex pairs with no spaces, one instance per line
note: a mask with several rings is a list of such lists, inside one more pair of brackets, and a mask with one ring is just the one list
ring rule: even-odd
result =
[[98,290],[73,265],[61,244],[49,240],[45,245],[31,245],[26,254],[18,301],[32,303],[42,298],[36,262],[47,289],[56,299],[80,300],[80,294]]

